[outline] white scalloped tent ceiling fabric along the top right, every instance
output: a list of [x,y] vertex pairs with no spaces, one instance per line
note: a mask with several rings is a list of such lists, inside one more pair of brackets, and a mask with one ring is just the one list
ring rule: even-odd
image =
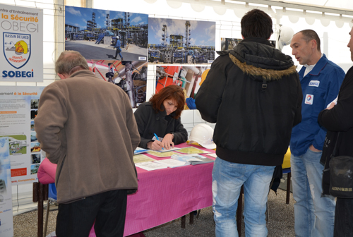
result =
[[[155,1],[155,0],[145,0]],[[205,6],[213,7],[218,15],[224,15],[227,9],[232,9],[238,18],[251,8],[259,8],[278,20],[288,16],[292,23],[297,23],[299,18],[305,18],[306,23],[312,25],[316,19],[321,20],[325,27],[330,22],[335,22],[337,28],[342,28],[345,23],[353,25],[353,0],[165,0],[172,8],[180,8],[183,3],[191,4],[194,11],[201,12]],[[335,4],[336,2],[336,4]],[[261,5],[258,5],[261,4]],[[294,11],[294,9],[297,9]]]

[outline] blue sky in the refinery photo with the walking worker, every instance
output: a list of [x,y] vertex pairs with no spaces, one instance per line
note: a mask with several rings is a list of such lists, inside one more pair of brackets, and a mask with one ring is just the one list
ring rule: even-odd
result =
[[[97,28],[106,28],[105,20],[107,14],[110,19],[125,18],[124,11],[109,11],[93,8],[80,8],[75,6],[66,6],[65,8],[65,24],[78,26],[80,30],[87,28],[87,20],[92,19],[92,13],[95,13],[95,22]],[[130,25],[148,24],[148,14],[130,13]]]

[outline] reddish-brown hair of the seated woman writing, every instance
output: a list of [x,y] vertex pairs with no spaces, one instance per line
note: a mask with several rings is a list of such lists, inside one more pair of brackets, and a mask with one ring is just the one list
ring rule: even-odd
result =
[[181,116],[181,111],[184,110],[185,105],[183,89],[181,89],[178,85],[168,85],[167,87],[162,88],[162,90],[160,90],[157,94],[152,95],[150,98],[150,103],[156,113],[158,111],[164,111],[164,108],[162,109],[162,104],[166,99],[174,99],[178,103],[177,110],[174,111],[175,116],[173,119],[179,119]]

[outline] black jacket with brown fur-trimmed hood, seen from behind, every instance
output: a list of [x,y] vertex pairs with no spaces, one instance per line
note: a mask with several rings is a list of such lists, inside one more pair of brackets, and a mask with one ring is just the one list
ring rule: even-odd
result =
[[196,95],[202,118],[217,122],[217,156],[240,164],[282,164],[292,126],[301,121],[292,57],[257,37],[219,54]]

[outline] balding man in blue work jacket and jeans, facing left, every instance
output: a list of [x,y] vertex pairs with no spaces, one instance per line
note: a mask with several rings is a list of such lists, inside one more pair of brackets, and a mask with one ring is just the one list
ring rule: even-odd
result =
[[303,102],[301,123],[290,141],[295,236],[332,237],[335,199],[321,196],[323,165],[320,164],[326,129],[318,114],[338,95],[345,72],[321,53],[320,38],[313,30],[293,36],[292,54],[303,67],[299,71]]

